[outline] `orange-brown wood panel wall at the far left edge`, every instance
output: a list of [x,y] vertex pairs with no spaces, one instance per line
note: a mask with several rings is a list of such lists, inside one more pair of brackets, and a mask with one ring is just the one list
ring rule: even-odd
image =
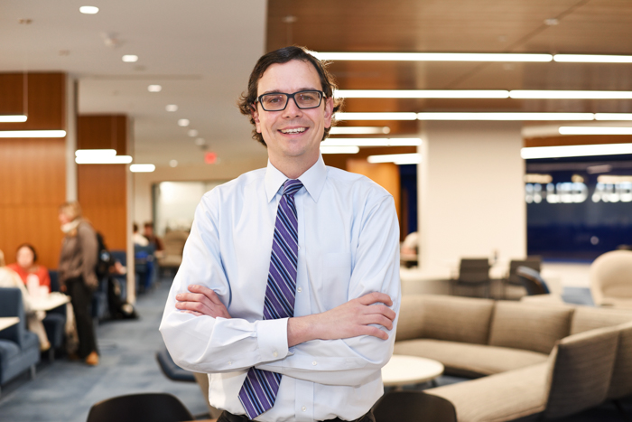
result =
[[[23,123],[0,123],[0,130],[66,129],[63,73],[0,73],[0,114],[23,114]],[[15,249],[31,243],[39,262],[56,268],[61,239],[58,207],[66,200],[64,138],[0,138],[0,249],[7,263]]]

